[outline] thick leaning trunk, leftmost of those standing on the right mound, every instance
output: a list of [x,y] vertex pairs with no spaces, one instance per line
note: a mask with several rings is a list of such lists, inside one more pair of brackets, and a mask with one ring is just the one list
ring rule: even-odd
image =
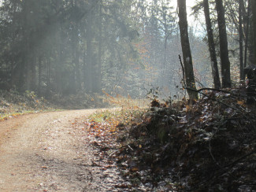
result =
[[[186,0],[177,0],[179,7],[179,26],[180,26],[180,41],[182,47],[182,53],[184,57],[184,70],[187,88],[195,89],[195,76],[193,70],[193,62],[191,56],[191,48],[187,32],[187,9]],[[187,90],[187,94],[191,99],[198,99],[198,93],[192,90]]]

